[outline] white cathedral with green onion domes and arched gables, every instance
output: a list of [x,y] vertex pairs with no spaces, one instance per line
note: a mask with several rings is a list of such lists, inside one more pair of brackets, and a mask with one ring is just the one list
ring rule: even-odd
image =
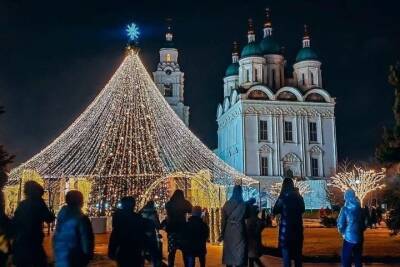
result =
[[256,41],[252,20],[247,39],[241,51],[234,43],[223,78],[216,153],[266,190],[287,176],[306,181],[307,208],[326,207],[325,179],[337,164],[335,98],[323,89],[308,29],[292,66],[274,39],[269,9],[262,39]]

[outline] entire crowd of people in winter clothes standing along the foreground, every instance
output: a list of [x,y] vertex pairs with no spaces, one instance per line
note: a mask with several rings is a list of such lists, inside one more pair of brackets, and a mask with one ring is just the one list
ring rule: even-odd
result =
[[[7,266],[9,255],[17,267],[48,266],[43,247],[43,224],[56,220],[53,235],[53,254],[56,267],[84,267],[94,254],[94,234],[89,217],[82,212],[83,195],[76,190],[66,194],[65,205],[57,218],[43,200],[44,190],[34,181],[24,185],[25,198],[18,204],[13,218],[0,214],[0,267]],[[353,190],[344,194],[337,227],[343,237],[342,265],[361,266],[363,232],[366,213],[361,208]],[[4,203],[4,201],[2,202]],[[163,265],[162,236],[165,230],[168,240],[168,266],[175,265],[177,250],[182,252],[185,267],[195,266],[196,258],[201,267],[206,266],[206,243],[209,225],[205,211],[185,199],[184,192],[176,190],[165,205],[166,218],[159,220],[153,201],[135,212],[134,197],[126,196],[112,217],[112,232],[108,245],[108,257],[118,266],[144,266],[145,261],[154,267]],[[283,266],[302,266],[304,201],[293,179],[285,178],[281,193],[272,209],[279,216],[279,248]],[[242,187],[236,185],[232,195],[221,210],[223,242],[222,264],[226,266],[264,266],[262,231],[272,225],[265,210],[261,212],[255,200],[243,199]],[[378,217],[378,215],[376,215]]]

